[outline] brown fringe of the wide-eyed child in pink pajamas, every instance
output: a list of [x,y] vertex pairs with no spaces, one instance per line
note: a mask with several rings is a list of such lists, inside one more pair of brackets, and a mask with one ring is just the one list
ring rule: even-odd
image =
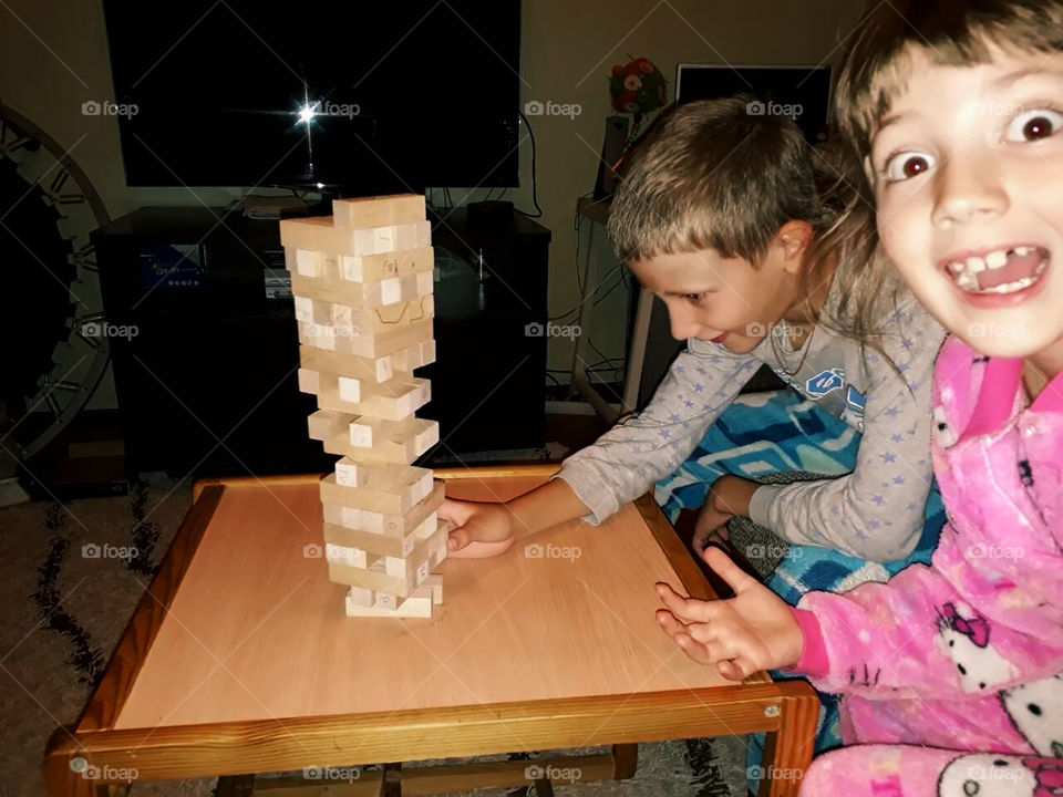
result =
[[838,127],[863,162],[878,124],[905,91],[912,52],[931,63],[989,63],[991,46],[1056,52],[1063,48],[1063,0],[894,0],[857,25],[838,74]]

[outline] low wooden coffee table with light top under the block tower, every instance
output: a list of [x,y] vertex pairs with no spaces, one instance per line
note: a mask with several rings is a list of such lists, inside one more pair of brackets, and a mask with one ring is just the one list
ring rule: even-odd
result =
[[[555,469],[436,475],[452,497],[506,500]],[[49,743],[52,797],[210,776],[238,776],[221,777],[219,794],[250,794],[293,786],[255,784],[254,773],[300,768],[322,779],[292,795],[431,794],[528,777],[546,795],[550,774],[630,776],[639,742],[751,732],[767,733],[765,773],[784,774],[761,794],[797,794],[791,775],[812,758],[815,693],[763,673],[725,682],[661,632],[656,581],[711,591],[649,496],[600,527],[572,521],[533,538],[537,547],[446,560],[444,603],[430,620],[351,619],[345,588],[314,556],[318,478],[197,483],[100,686]],[[401,767],[600,745],[611,754]]]

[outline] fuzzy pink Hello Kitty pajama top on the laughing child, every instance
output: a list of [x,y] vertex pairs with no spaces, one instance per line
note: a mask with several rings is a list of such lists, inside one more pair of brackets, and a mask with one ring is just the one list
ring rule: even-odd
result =
[[807,593],[796,669],[843,694],[847,743],[939,744],[959,723],[972,744],[1061,756],[1063,374],[1026,406],[1021,360],[949,338],[933,405],[949,521],[931,566]]

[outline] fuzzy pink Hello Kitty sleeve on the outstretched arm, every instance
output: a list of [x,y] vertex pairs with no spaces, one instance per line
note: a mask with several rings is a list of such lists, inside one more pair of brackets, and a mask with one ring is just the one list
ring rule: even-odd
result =
[[[968,594],[981,605],[992,594]],[[1042,639],[1020,630],[1005,607],[989,619],[964,601],[945,576],[912,565],[888,583],[867,582],[843,594],[808,592],[797,604],[805,650],[819,643],[823,662],[803,656],[796,670],[823,692],[871,700],[952,698],[994,694],[1060,670],[1063,634]]]

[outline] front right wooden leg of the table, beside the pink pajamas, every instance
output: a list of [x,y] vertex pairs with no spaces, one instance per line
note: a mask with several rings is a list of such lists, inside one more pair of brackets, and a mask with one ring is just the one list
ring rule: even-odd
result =
[[778,731],[764,743],[760,797],[797,797],[816,744],[819,698],[805,681],[778,681],[782,692]]

